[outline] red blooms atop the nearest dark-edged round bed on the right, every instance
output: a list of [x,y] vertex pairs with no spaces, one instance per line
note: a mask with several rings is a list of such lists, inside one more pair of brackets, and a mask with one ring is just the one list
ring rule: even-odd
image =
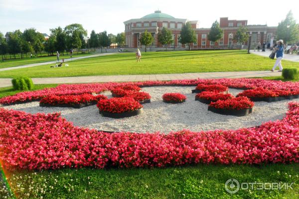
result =
[[254,102],[249,100],[247,97],[238,97],[228,100],[218,100],[216,102],[211,102],[209,106],[219,109],[241,110],[252,108],[254,106]]

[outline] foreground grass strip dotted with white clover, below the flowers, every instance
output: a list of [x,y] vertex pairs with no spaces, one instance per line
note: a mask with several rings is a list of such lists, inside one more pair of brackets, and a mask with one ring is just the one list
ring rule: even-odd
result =
[[[198,165],[154,169],[61,169],[9,174],[22,199],[298,199],[299,164]],[[289,183],[294,190],[225,191],[229,179]],[[251,186],[249,186],[251,187]],[[2,195],[5,195],[2,193]]]

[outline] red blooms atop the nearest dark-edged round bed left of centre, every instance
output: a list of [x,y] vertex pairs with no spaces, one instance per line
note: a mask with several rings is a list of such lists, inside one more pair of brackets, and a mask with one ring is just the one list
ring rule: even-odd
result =
[[143,105],[131,97],[123,97],[100,100],[97,107],[101,112],[122,113],[140,109]]

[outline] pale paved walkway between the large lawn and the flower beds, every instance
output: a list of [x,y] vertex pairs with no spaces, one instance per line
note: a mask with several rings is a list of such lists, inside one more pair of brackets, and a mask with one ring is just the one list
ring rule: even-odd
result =
[[[211,73],[182,73],[157,75],[115,75],[115,76],[86,76],[65,78],[32,78],[34,84],[75,84],[96,82],[130,82],[147,80],[182,80],[182,79],[219,79],[219,78],[249,78],[281,76],[281,72],[271,71],[240,71],[240,72],[211,72]],[[11,86],[11,79],[0,79],[0,87]]]

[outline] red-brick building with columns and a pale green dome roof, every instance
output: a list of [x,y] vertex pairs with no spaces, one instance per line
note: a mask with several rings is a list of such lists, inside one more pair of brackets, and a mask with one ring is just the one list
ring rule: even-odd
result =
[[247,20],[229,20],[228,17],[220,18],[220,28],[223,29],[223,38],[214,43],[209,41],[207,35],[210,28],[199,28],[199,21],[189,21],[188,19],[174,18],[168,14],[162,13],[160,10],[148,14],[137,19],[130,19],[125,21],[126,45],[131,48],[140,47],[139,38],[142,32],[148,30],[154,38],[152,47],[163,47],[157,41],[157,34],[159,28],[167,27],[171,30],[174,42],[169,47],[186,48],[186,45],[180,44],[178,38],[182,26],[189,22],[196,33],[197,42],[191,44],[192,49],[200,48],[228,48],[235,46],[237,41],[233,40],[234,34],[237,32],[239,26],[246,26],[251,35],[251,44],[257,45],[259,42],[273,44],[277,27],[269,27],[267,25],[248,25]]

